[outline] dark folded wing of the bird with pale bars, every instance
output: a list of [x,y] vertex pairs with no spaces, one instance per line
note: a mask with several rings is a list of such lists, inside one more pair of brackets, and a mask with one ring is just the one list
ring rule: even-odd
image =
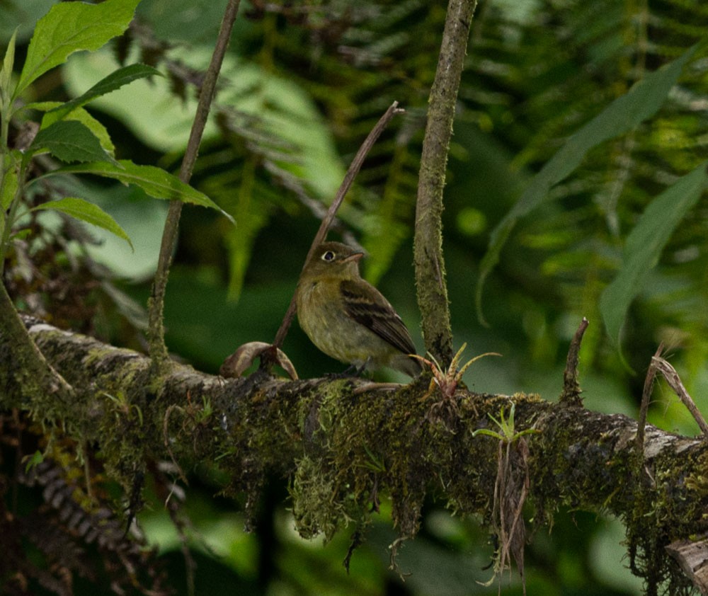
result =
[[381,292],[363,280],[342,280],[339,285],[344,310],[357,323],[386,340],[404,354],[415,354],[411,334]]

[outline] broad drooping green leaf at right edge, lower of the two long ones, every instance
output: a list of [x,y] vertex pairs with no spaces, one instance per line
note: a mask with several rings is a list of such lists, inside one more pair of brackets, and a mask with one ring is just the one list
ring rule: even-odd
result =
[[654,198],[627,236],[622,268],[600,296],[605,328],[616,345],[629,304],[641,291],[646,274],[658,262],[675,227],[700,199],[708,183],[707,168],[704,161]]

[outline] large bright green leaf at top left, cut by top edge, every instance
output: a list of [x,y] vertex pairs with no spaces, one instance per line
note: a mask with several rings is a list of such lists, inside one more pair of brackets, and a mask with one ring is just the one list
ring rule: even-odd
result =
[[37,23],[15,94],[79,50],[98,50],[121,35],[140,0],[105,0],[101,4],[64,2],[52,6]]

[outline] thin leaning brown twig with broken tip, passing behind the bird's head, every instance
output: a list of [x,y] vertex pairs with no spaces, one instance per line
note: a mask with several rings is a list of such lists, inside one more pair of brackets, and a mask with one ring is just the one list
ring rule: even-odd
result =
[[[324,219],[322,219],[322,223],[319,226],[319,230],[317,230],[317,234],[315,234],[314,236],[312,246],[310,246],[304,263],[307,263],[310,256],[312,256],[312,253],[314,253],[315,248],[319,246],[326,238],[327,231],[329,231],[329,227],[333,222],[334,216],[336,215],[337,210],[342,204],[344,197],[349,192],[349,189],[351,188],[351,185],[354,182],[354,178],[359,173],[359,170],[361,169],[361,166],[364,163],[364,159],[367,156],[368,152],[374,146],[380,134],[384,131],[384,128],[387,127],[388,123],[391,121],[394,115],[404,113],[405,111],[406,110],[398,107],[397,101],[394,101],[394,103],[389,106],[389,109],[386,110],[384,115],[379,118],[379,121],[369,133],[369,136],[366,137],[365,141],[362,143],[361,147],[359,148],[359,151],[357,151],[357,154],[354,156],[354,159],[351,165],[349,166],[349,169],[347,170],[346,176],[344,176],[344,180],[342,180],[341,186],[339,187],[339,190],[337,191],[337,194],[334,197],[332,204],[329,206],[327,214],[325,215]],[[290,325],[292,325],[292,319],[295,318],[295,309],[295,294],[293,294],[292,299],[290,300],[290,306],[287,307],[287,311],[285,312],[285,316],[282,319],[282,323],[280,323],[278,333],[275,334],[275,340],[273,340],[274,348],[282,347],[282,343],[283,341],[285,341],[285,336],[287,336],[287,331],[290,329]]]

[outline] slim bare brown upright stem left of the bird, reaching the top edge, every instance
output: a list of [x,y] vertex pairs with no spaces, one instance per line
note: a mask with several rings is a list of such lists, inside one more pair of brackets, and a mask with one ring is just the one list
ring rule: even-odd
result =
[[[217,77],[221,69],[224,55],[229,45],[229,38],[236,20],[236,13],[239,11],[240,0],[229,0],[224,18],[222,20],[219,35],[212,54],[212,60],[207,69],[204,83],[199,94],[197,113],[192,123],[192,130],[189,135],[187,149],[182,159],[179,178],[183,183],[188,184],[192,177],[199,145],[202,140],[202,133],[207,123],[209,110],[216,92]],[[177,231],[179,217],[182,212],[182,202],[172,200],[170,202],[165,229],[162,233],[162,243],[160,246],[160,256],[155,273],[155,280],[152,285],[152,292],[149,299],[149,328],[148,336],[150,343],[150,357],[154,367],[162,367],[167,360],[167,347],[165,345],[165,328],[163,321],[165,290],[167,287],[167,276],[172,263],[172,255],[177,244]]]

